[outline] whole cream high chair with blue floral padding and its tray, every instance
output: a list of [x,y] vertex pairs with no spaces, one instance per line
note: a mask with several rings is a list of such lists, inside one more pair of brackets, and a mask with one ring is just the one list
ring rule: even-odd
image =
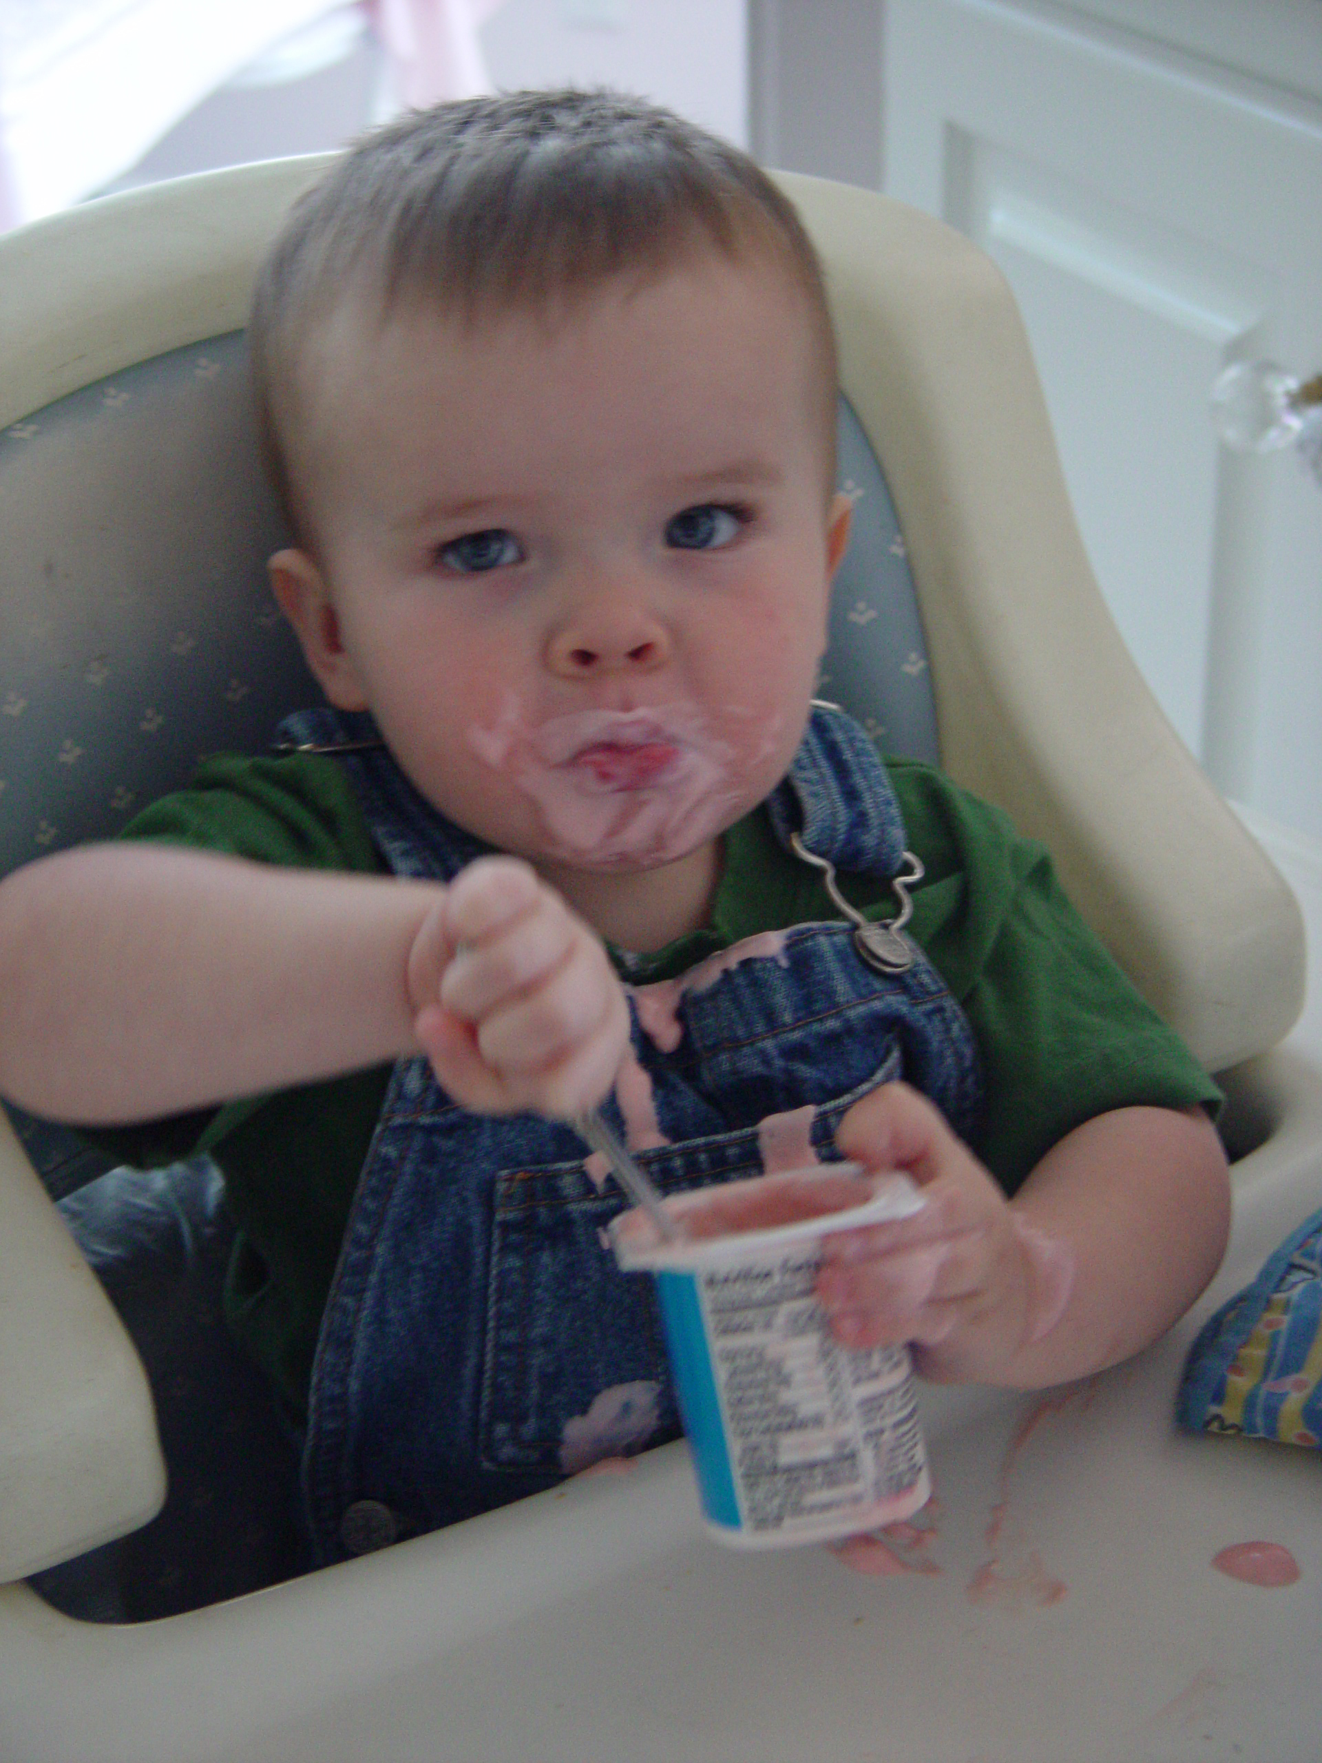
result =
[[[321,166],[136,190],[0,242],[5,869],[111,830],[199,744],[259,748],[310,702],[264,599],[279,522],[234,333]],[[1225,1074],[1225,1268],[1165,1342],[1088,1386],[924,1393],[940,1516],[915,1546],[940,1571],[726,1553],[698,1529],[679,1444],[249,1597],[88,1624],[21,1581],[159,1507],[152,1398],[0,1123],[11,1763],[1317,1754],[1317,1465],[1172,1421],[1199,1320],[1318,1204],[1322,1070],[1271,1053],[1301,1000],[1297,908],[1102,605],[998,272],[897,203],[783,182],[825,256],[843,390],[902,531],[851,552],[827,695],[924,753],[931,670],[943,765],[1045,839],[1140,991]],[[855,444],[862,517],[885,487]],[[1248,1537],[1287,1544],[1299,1587],[1211,1571]]]

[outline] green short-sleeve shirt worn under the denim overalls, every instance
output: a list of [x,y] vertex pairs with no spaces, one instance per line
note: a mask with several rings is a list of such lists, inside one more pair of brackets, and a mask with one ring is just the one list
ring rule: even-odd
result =
[[[973,1149],[1005,1192],[1095,1114],[1214,1107],[1216,1086],[1077,915],[1045,848],[931,765],[895,760],[888,772],[910,850],[925,867],[910,931],[973,1026],[987,1091]],[[286,867],[382,867],[344,767],[323,755],[210,760],[123,837]],[[869,915],[894,913],[887,887],[857,876],[841,885]],[[668,978],[739,938],[834,917],[820,873],[784,852],[756,809],[724,837],[709,927],[656,956],[613,954],[628,980]],[[388,1079],[390,1068],[377,1067],[99,1134],[139,1165],[197,1151],[217,1160],[241,1232],[227,1315],[294,1412],[307,1405],[321,1313]]]

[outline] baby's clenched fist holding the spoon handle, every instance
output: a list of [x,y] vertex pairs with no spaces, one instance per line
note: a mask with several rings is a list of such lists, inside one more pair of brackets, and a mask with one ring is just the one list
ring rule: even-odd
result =
[[451,882],[414,940],[409,998],[437,1079],[483,1114],[596,1107],[629,1044],[601,940],[515,857]]

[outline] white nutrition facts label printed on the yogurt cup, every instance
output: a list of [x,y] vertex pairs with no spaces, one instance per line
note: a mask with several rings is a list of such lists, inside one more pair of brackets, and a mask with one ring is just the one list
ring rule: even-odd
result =
[[751,1530],[895,1499],[925,1469],[908,1349],[839,1347],[813,1296],[816,1271],[816,1252],[790,1250],[698,1276]]

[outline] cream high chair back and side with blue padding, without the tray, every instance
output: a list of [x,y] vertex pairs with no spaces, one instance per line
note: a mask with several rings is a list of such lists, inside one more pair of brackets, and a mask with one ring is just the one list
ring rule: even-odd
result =
[[[316,698],[266,594],[282,529],[240,331],[323,164],[134,190],[0,242],[0,873],[113,832],[199,751],[261,749]],[[1102,605],[1005,282],[925,215],[783,182],[827,264],[860,517],[823,693],[1045,839],[1209,1067],[1273,1045],[1301,1000],[1297,908]],[[132,1358],[42,1208],[5,1135],[0,1308],[28,1326],[0,1331],[0,1580],[141,1523],[160,1491]],[[90,1417],[88,1387],[109,1393]]]

